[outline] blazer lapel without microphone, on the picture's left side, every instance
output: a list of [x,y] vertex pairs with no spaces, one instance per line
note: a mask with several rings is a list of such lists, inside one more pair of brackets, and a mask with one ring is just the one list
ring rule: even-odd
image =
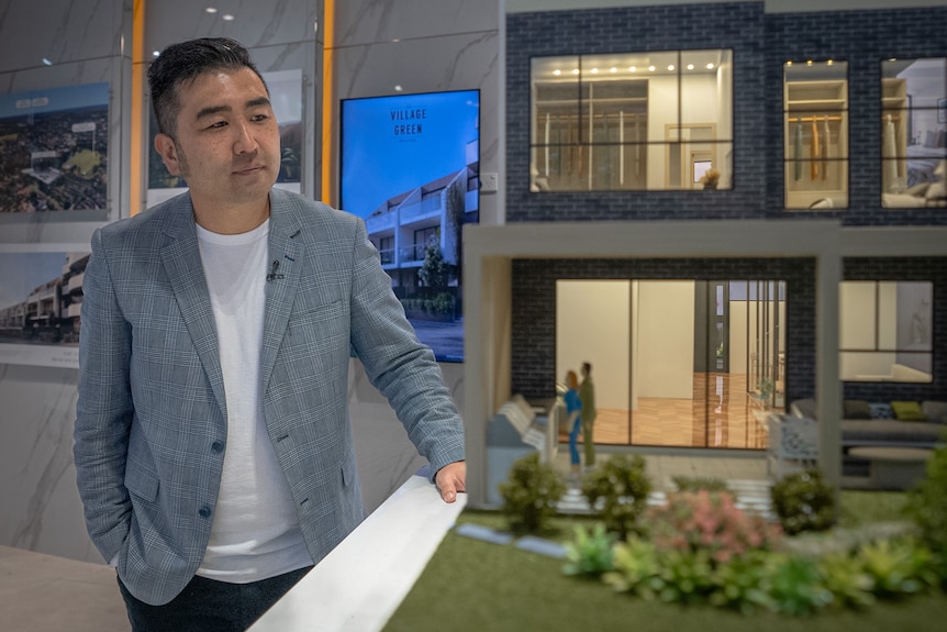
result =
[[182,198],[186,201],[168,209],[169,222],[165,232],[170,240],[161,248],[161,264],[168,275],[168,282],[181,310],[185,325],[211,382],[218,406],[226,418],[226,396],[213,308],[201,266],[190,197],[186,195]]

